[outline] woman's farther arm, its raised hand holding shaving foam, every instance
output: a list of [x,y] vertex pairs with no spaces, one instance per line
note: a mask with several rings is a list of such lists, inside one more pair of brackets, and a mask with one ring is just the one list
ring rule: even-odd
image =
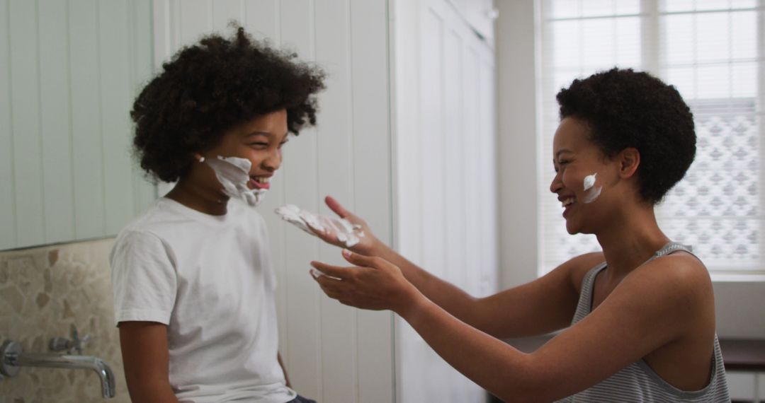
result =
[[[602,253],[579,256],[533,282],[486,298],[474,298],[382,243],[373,235],[366,221],[347,211],[334,198],[327,196],[326,202],[340,218],[363,228],[365,237],[360,238],[360,243],[350,250],[364,256],[379,256],[398,266],[403,276],[426,298],[457,319],[494,337],[526,337],[568,326],[579,297],[581,269],[589,269],[604,260]],[[314,233],[327,243],[343,247],[334,233],[317,230]]]

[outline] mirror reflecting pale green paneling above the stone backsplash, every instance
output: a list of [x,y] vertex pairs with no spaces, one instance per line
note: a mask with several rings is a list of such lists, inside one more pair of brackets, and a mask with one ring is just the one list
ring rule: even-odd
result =
[[0,0],[0,250],[116,234],[155,198],[130,156],[151,0]]

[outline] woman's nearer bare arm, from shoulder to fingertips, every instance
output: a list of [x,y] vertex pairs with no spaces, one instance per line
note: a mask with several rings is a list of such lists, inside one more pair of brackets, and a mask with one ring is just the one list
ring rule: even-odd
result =
[[698,270],[667,270],[657,260],[627,276],[587,318],[526,354],[439,308],[391,263],[346,258],[361,267],[312,263],[328,275],[317,279],[327,295],[396,311],[451,366],[505,401],[552,401],[584,390],[678,340],[698,319]]

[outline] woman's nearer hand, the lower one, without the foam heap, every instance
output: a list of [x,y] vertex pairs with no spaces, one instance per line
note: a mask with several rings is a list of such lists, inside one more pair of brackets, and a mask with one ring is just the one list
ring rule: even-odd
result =
[[330,298],[356,308],[390,309],[398,314],[415,308],[425,298],[404,278],[401,270],[387,260],[349,250],[343,250],[343,257],[355,267],[311,262],[311,266],[321,272],[318,276],[312,272],[311,276]]

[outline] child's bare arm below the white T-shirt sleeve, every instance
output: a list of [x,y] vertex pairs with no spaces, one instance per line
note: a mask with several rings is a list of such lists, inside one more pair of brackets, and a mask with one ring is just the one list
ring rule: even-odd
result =
[[168,327],[157,322],[120,322],[119,344],[131,400],[177,403],[168,378]]

